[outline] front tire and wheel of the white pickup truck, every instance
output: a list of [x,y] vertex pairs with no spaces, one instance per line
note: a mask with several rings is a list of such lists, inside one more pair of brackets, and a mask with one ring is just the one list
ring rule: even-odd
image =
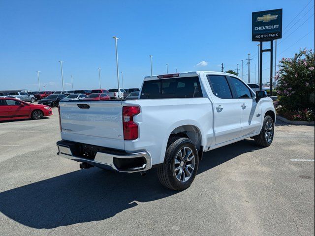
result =
[[260,134],[254,136],[256,144],[260,147],[269,147],[274,139],[275,124],[270,116],[264,118]]

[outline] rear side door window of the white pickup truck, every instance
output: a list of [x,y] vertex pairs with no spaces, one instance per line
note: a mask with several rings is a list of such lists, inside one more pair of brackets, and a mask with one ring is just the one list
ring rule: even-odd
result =
[[225,76],[207,75],[212,92],[220,98],[232,98],[230,87]]

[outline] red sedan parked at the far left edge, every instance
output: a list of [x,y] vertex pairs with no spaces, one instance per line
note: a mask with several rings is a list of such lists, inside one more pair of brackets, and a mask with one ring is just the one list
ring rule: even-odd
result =
[[53,115],[50,107],[23,102],[17,98],[0,97],[0,120],[40,119]]

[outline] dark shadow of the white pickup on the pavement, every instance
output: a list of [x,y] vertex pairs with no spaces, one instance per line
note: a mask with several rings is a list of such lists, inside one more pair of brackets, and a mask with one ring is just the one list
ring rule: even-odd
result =
[[[257,149],[244,140],[204,153],[198,174],[245,152]],[[196,181],[196,180],[195,180]],[[167,198],[178,192],[164,188],[155,170],[121,174],[98,168],[74,171],[0,193],[0,211],[14,221],[36,229],[54,229],[115,216],[137,202]]]

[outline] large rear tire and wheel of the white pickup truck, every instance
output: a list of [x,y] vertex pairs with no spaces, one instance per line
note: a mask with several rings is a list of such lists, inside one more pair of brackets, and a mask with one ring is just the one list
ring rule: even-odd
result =
[[158,167],[160,183],[176,191],[190,186],[198,171],[199,157],[195,145],[188,138],[170,138],[164,163]]

